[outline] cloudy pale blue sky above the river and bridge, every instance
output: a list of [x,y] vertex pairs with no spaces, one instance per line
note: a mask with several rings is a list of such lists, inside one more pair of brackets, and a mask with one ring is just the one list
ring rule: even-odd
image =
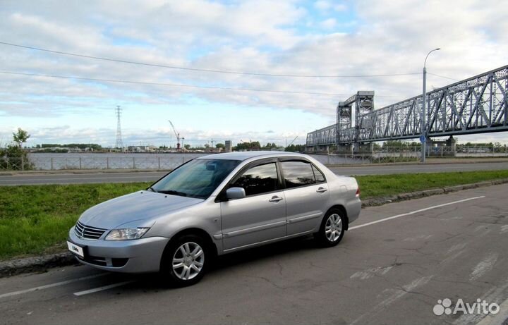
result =
[[193,146],[303,144],[358,90],[375,109],[421,94],[430,49],[428,90],[508,64],[507,16],[492,0],[0,0],[0,42],[156,65],[0,44],[0,144],[23,128],[28,146],[114,146],[116,106],[124,145],[174,147],[168,120]]

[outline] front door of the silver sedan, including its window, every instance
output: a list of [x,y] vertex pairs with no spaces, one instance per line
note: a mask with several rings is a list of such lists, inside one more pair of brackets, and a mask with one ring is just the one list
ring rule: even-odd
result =
[[243,188],[246,197],[220,203],[225,252],[286,236],[286,200],[276,159],[248,165],[226,188]]

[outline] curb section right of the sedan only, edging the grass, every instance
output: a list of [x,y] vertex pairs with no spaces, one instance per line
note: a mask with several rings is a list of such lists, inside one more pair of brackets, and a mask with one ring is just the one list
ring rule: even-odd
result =
[[489,180],[487,182],[478,182],[464,185],[456,185],[449,186],[447,188],[433,188],[431,190],[423,190],[417,192],[409,192],[409,193],[401,193],[397,195],[392,195],[389,197],[373,197],[371,199],[362,200],[362,207],[377,207],[379,205],[392,203],[392,202],[400,202],[406,200],[418,199],[421,197],[428,197],[430,195],[439,195],[445,194],[449,192],[457,192],[461,190],[470,190],[471,188],[482,188],[484,186],[490,185],[500,185],[508,183],[508,178],[500,179],[500,180]]

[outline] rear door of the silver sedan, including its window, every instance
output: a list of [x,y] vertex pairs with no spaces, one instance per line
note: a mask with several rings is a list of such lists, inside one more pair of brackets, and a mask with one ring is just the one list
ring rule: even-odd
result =
[[286,187],[287,235],[313,231],[328,208],[325,176],[306,159],[281,158],[279,164]]

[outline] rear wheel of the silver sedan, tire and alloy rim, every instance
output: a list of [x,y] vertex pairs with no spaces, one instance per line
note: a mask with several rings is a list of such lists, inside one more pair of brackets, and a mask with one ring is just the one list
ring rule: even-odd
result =
[[346,217],[339,209],[330,209],[321,221],[320,230],[314,234],[322,247],[333,247],[340,243],[346,230]]

